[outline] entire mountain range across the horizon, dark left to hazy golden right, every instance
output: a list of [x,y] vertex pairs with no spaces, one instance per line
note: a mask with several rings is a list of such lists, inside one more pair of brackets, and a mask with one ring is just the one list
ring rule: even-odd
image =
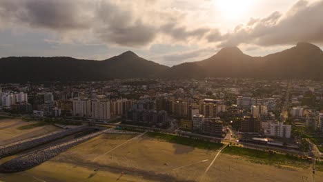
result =
[[104,61],[71,57],[7,57],[0,59],[1,82],[92,81],[110,78],[254,77],[323,79],[323,52],[311,43],[265,57],[251,57],[237,47],[222,48],[203,61],[171,68],[124,52]]

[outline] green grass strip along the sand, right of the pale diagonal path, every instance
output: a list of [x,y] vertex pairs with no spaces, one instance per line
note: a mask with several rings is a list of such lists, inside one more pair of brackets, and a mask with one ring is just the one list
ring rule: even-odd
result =
[[264,152],[248,148],[239,148],[235,146],[226,147],[223,150],[224,154],[232,154],[246,156],[254,163],[262,163],[268,165],[290,165],[298,168],[309,168],[311,161],[301,159],[290,154],[275,154],[273,152]]

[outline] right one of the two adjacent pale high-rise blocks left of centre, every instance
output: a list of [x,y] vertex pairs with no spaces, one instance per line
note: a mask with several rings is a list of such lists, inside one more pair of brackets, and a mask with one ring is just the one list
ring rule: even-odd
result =
[[110,119],[110,101],[92,101],[92,118],[100,120]]

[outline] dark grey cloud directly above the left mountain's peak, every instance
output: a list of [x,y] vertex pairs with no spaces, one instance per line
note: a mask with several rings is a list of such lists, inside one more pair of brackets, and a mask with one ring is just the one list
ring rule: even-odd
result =
[[135,19],[132,12],[112,3],[101,2],[97,11],[99,26],[95,28],[99,37],[107,43],[138,47],[146,45],[156,37],[156,28]]

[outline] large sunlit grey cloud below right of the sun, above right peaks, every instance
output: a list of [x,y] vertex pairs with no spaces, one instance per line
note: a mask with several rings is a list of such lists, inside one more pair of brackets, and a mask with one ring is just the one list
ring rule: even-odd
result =
[[323,1],[309,5],[298,1],[284,16],[279,12],[263,19],[251,19],[226,34],[220,46],[254,43],[257,45],[295,44],[298,41],[323,42]]

